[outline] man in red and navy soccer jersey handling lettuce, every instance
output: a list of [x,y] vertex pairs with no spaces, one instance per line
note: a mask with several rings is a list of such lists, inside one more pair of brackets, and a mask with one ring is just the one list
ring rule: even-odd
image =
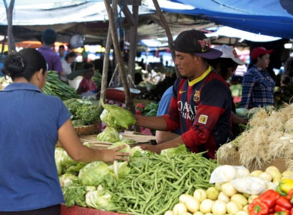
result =
[[171,131],[180,127],[182,135],[142,148],[160,153],[185,144],[193,152],[207,151],[205,156],[215,158],[219,146],[232,137],[231,91],[206,60],[218,58],[222,52],[212,49],[205,34],[196,30],[181,32],[174,43],[175,64],[181,77],[173,85],[168,114],[135,118],[136,125],[155,130]]

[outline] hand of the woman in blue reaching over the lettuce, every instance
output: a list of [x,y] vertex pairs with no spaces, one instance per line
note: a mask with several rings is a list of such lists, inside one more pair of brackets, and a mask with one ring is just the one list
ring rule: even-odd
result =
[[103,153],[102,161],[111,163],[113,163],[115,160],[129,161],[127,156],[130,156],[130,153],[119,151],[125,147],[127,147],[127,144],[112,149],[101,149]]

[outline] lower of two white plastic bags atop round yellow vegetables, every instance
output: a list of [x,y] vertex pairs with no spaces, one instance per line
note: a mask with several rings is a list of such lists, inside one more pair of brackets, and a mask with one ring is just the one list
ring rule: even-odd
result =
[[231,181],[234,188],[240,193],[259,195],[267,190],[268,181],[260,177],[247,176]]

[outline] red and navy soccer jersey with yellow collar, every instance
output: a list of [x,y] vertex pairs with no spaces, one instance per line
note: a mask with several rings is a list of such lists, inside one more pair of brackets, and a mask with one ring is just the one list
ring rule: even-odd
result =
[[231,91],[226,81],[211,67],[189,82],[178,78],[165,115],[167,130],[179,126],[182,139],[191,151],[208,151],[215,158],[220,145],[231,140]]

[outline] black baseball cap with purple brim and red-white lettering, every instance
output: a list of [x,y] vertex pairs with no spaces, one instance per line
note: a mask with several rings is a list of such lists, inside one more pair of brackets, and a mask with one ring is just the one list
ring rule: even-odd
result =
[[207,59],[222,56],[222,52],[211,48],[209,39],[204,33],[197,30],[181,32],[174,41],[175,51],[198,55]]

